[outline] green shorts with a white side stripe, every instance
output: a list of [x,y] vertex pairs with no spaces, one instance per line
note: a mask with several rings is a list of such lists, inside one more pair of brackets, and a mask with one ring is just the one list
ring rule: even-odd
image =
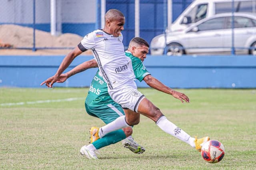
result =
[[106,124],[116,120],[120,116],[124,116],[122,107],[114,101],[100,104],[91,102],[90,105],[87,103],[84,103],[84,105],[89,115],[100,118]]

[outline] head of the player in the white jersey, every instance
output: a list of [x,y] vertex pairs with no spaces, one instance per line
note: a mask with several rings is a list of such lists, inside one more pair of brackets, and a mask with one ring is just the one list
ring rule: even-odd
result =
[[108,10],[105,14],[105,27],[104,31],[118,37],[120,32],[124,30],[125,17],[124,14],[116,9]]

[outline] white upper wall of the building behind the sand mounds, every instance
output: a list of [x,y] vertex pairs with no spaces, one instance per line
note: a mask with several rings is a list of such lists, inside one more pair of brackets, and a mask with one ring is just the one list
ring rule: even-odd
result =
[[[95,0],[56,0],[63,23],[95,23]],[[0,23],[33,23],[33,0],[1,0]],[[35,0],[36,23],[50,24],[50,0]]]

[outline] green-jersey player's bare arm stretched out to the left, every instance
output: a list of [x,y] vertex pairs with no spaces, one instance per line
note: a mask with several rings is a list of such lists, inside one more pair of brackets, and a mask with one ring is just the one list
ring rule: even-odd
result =
[[[98,67],[97,62],[94,59],[85,61],[84,63],[77,65],[72,70],[68,71],[67,73],[62,73],[60,76],[58,76],[58,78],[56,79],[55,82],[63,83],[64,81],[66,81],[66,79],[68,79],[72,75],[75,75],[76,73],[80,73],[82,71],[85,71],[86,69],[94,68],[94,67]],[[41,83],[41,85],[46,83],[46,86],[50,87],[50,83],[53,81],[53,79],[54,79],[54,76],[49,77],[48,79],[43,81]]]

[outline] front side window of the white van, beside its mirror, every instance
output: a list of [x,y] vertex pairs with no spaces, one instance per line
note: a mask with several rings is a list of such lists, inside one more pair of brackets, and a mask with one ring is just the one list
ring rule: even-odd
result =
[[199,4],[192,8],[192,10],[186,15],[187,23],[191,24],[194,22],[198,22],[206,17],[207,14],[207,4]]

